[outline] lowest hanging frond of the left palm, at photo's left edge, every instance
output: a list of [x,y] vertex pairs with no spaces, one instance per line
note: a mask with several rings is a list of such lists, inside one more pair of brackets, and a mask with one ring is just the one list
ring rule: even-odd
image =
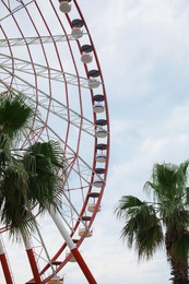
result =
[[25,171],[8,168],[0,182],[0,221],[10,227],[10,234],[27,233],[34,226],[34,217],[27,205],[27,178]]

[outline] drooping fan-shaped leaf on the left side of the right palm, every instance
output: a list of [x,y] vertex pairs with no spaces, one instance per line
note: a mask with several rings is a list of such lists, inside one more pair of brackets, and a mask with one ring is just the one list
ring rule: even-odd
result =
[[135,197],[125,196],[119,201],[116,213],[126,222],[121,238],[127,240],[130,248],[135,247],[139,259],[149,259],[163,245],[162,226],[153,205],[147,205]]

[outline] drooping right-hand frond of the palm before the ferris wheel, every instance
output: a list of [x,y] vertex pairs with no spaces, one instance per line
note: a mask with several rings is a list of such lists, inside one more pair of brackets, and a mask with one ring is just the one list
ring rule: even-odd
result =
[[45,152],[44,155],[40,145],[37,144],[35,154],[26,153],[23,158],[28,174],[27,199],[31,204],[38,202],[40,210],[46,210],[49,205],[58,209],[61,205],[61,180],[48,153]]

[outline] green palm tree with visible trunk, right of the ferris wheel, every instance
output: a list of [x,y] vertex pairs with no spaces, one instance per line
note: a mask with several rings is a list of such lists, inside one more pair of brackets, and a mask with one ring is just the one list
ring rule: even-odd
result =
[[151,180],[144,185],[151,202],[123,196],[116,208],[117,217],[125,221],[121,237],[129,248],[135,248],[139,259],[149,260],[165,246],[174,284],[189,283],[188,165],[189,161],[179,166],[155,164]]

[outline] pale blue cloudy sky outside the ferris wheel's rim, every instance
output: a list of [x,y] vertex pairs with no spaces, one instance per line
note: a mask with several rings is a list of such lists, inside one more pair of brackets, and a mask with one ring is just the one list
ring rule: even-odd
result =
[[[101,62],[110,119],[102,211],[81,252],[98,284],[168,283],[165,251],[138,262],[114,213],[123,194],[145,199],[154,163],[189,158],[189,1],[79,0]],[[19,260],[17,260],[19,261]],[[64,283],[87,283],[68,263]],[[23,283],[17,283],[23,284]]]

